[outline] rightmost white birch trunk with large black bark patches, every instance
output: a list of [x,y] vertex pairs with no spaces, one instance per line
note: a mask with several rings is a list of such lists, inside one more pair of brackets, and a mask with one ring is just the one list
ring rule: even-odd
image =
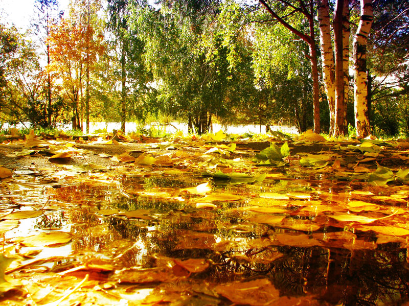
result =
[[372,26],[372,0],[360,0],[361,16],[353,41],[354,109],[356,136],[365,138],[370,133],[367,87],[367,40]]

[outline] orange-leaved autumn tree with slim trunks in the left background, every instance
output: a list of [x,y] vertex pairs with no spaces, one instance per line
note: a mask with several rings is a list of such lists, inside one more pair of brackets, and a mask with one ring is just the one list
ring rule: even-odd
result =
[[[104,51],[103,36],[97,27],[99,2],[91,4],[89,13],[92,9],[92,17],[88,16],[88,4],[81,0],[74,3],[70,16],[62,19],[50,35],[50,69],[61,78],[64,91],[72,102],[73,129],[82,129],[81,98],[84,82],[89,90],[89,70],[95,67],[98,56]],[[96,23],[90,23],[91,18]],[[85,112],[89,127],[89,93],[87,98]]]

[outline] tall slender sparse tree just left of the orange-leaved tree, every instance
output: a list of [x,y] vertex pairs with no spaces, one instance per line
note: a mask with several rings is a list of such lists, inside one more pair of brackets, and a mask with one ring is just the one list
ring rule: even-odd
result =
[[[57,24],[62,17],[63,12],[58,11],[57,0],[35,0],[35,8],[37,9],[37,18],[33,20],[32,26],[34,33],[39,38],[39,41],[44,46],[44,51],[47,57],[47,65],[50,65],[50,33],[51,28]],[[52,124],[52,77],[51,72],[47,72],[47,119],[48,124]]]

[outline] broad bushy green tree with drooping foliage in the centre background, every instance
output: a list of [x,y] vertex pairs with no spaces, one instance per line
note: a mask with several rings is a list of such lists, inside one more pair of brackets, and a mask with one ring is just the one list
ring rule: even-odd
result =
[[133,25],[146,44],[145,59],[157,80],[162,111],[187,119],[192,130],[204,133],[213,115],[225,116],[233,107],[228,101],[238,100],[227,96],[238,92],[242,75],[229,70],[220,37],[214,36],[211,45],[202,40],[217,27],[217,10],[197,5],[165,2],[161,10],[145,8],[133,15]]

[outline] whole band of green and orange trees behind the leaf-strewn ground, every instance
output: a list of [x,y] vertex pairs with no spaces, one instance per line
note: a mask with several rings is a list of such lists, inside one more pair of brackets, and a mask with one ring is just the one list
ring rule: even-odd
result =
[[[336,2],[35,0],[0,20],[0,125],[286,122],[300,132],[409,134],[409,9]],[[83,126],[84,123],[84,126]]]

